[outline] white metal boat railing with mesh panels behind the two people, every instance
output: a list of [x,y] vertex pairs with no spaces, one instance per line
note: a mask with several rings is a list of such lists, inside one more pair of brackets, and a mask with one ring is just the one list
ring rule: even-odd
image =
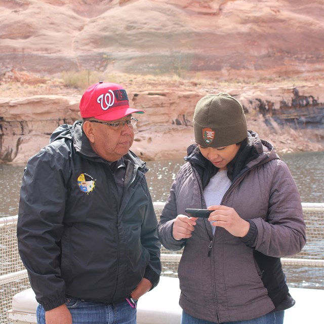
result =
[[[165,203],[156,201],[153,205],[159,219]],[[294,278],[294,282],[301,283],[288,281],[290,287],[324,289],[324,203],[303,203],[302,206],[306,223],[306,246],[297,256],[281,258],[281,262],[286,274],[289,272],[288,279]],[[3,324],[10,322],[6,311],[11,308],[12,297],[30,288],[27,271],[17,248],[17,220],[18,216],[0,218],[0,322]],[[177,276],[181,253],[182,251],[161,248],[163,275]]]

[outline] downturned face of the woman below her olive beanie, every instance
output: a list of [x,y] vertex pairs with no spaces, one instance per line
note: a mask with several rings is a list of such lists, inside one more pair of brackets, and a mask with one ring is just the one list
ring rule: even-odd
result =
[[227,170],[227,165],[235,157],[240,145],[232,144],[223,147],[205,147],[199,145],[201,154],[220,170]]

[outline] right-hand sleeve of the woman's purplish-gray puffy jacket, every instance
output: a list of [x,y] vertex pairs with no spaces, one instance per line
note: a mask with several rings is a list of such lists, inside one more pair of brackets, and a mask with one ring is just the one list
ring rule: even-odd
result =
[[267,219],[252,220],[257,227],[254,247],[271,257],[298,254],[306,243],[306,226],[296,183],[282,160],[275,166]]

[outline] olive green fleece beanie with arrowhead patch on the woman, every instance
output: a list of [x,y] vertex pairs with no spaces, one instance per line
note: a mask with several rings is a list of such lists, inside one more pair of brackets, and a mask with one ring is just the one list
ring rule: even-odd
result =
[[201,98],[193,115],[194,138],[204,147],[223,147],[247,138],[247,120],[242,105],[221,92]]

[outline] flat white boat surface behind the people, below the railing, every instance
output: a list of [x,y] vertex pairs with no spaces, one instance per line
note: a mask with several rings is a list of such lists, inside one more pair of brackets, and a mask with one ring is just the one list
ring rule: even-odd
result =
[[[285,324],[323,324],[324,290],[290,288],[296,305],[285,311]],[[137,324],[180,324],[179,280],[176,277],[161,277],[156,288],[138,302]],[[8,317],[17,324],[36,323],[37,303],[31,289],[14,296]]]

